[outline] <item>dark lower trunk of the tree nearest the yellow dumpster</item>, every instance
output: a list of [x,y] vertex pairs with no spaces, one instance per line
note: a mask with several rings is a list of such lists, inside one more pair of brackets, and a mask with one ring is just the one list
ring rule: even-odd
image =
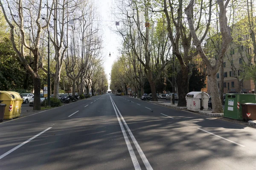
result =
[[40,100],[40,92],[41,92],[41,80],[39,76],[33,79],[34,82],[34,111],[41,111],[41,100]]

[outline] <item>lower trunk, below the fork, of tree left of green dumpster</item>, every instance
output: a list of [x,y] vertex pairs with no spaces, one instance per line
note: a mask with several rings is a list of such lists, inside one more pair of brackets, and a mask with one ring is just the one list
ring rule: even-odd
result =
[[208,72],[208,78],[209,78],[208,82],[209,82],[211,95],[212,95],[212,113],[223,113],[216,74],[215,73],[209,74]]

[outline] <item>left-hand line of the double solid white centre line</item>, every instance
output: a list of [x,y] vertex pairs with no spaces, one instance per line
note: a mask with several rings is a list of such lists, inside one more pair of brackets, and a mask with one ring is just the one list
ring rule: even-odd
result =
[[[111,96],[110,96],[110,98],[111,98]],[[112,99],[111,99],[111,102],[112,102],[112,105],[113,105]],[[120,125],[120,127],[121,127],[122,134],[123,134],[123,136],[124,136],[124,138],[125,138],[125,143],[126,143],[126,145],[127,145],[127,147],[128,147],[128,151],[129,151],[129,153],[130,153],[132,163],[134,164],[134,168],[135,168],[135,170],[141,170],[140,164],[139,164],[139,162],[138,162],[138,160],[137,160],[137,158],[136,158],[136,156],[135,156],[134,150],[133,150],[132,147],[131,147],[131,143],[130,143],[130,141],[129,141],[129,139],[128,139],[128,136],[127,136],[127,134],[126,134],[126,132],[125,132],[125,128],[124,128],[124,126],[122,125],[122,122],[121,122],[121,120],[120,120],[120,118],[119,118],[119,116],[118,116],[118,113],[116,112],[116,108],[115,108],[114,105],[113,105],[113,108],[114,108],[114,110],[115,110],[116,117],[117,117],[118,122],[119,122],[119,125]]]

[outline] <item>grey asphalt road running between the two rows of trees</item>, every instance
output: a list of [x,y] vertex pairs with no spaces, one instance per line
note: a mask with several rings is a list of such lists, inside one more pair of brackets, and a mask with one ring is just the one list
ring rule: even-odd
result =
[[255,170],[256,129],[105,94],[0,124],[0,170]]

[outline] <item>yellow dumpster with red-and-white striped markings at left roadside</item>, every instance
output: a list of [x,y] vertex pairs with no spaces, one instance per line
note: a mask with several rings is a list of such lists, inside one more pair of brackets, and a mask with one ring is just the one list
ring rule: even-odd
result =
[[0,91],[0,103],[6,104],[3,119],[20,116],[23,98],[15,91]]

